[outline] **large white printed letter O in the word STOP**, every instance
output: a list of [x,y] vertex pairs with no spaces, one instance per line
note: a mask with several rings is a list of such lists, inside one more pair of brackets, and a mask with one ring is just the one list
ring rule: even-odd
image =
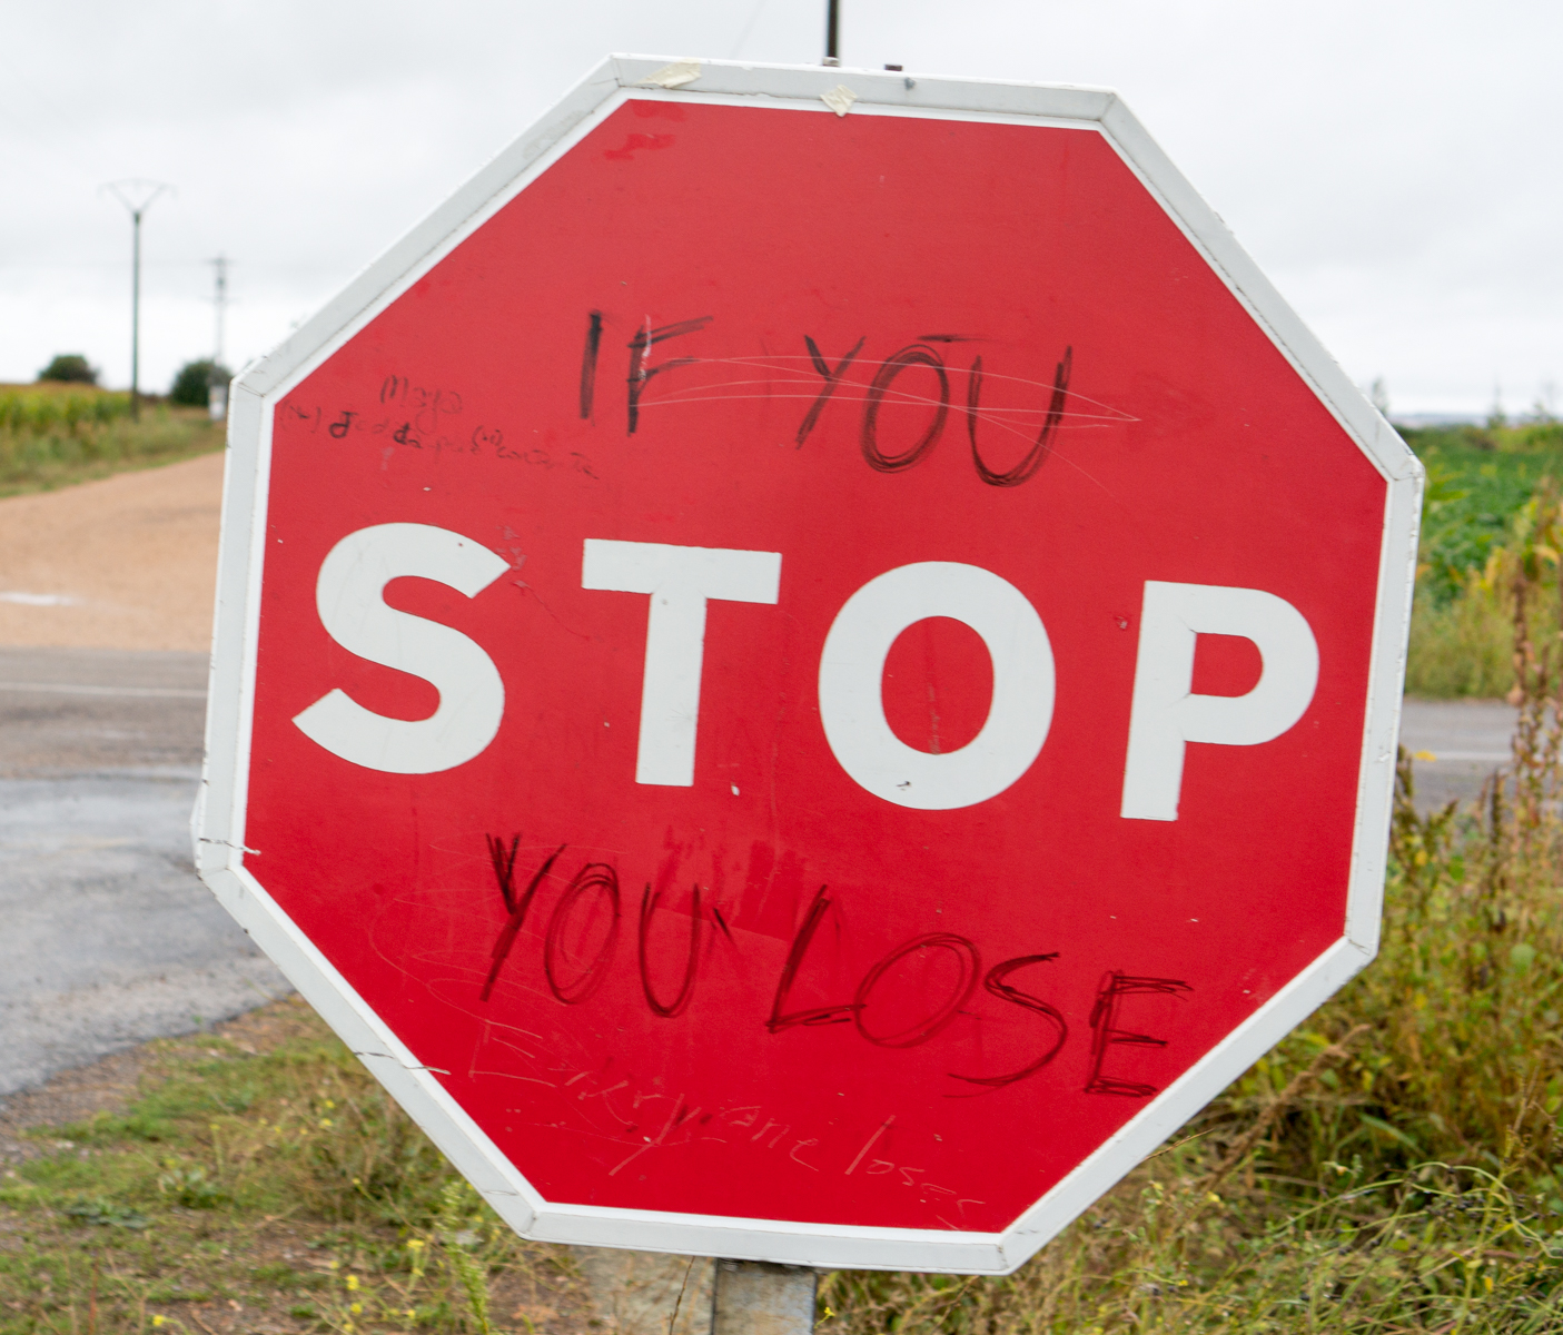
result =
[[[960,750],[907,746],[885,718],[885,658],[930,616],[975,630],[993,660],[993,703]],[[919,561],[869,580],[836,613],[819,658],[819,719],[841,768],[875,797],[919,811],[997,797],[1036,760],[1053,719],[1053,650],[1036,608],[980,566]]]

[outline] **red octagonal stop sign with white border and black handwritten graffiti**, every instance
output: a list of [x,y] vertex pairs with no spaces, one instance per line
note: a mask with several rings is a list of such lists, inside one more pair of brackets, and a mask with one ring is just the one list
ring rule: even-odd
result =
[[1421,474],[1113,94],[610,61],[231,449],[202,874],[531,1237],[1013,1269],[1375,949]]

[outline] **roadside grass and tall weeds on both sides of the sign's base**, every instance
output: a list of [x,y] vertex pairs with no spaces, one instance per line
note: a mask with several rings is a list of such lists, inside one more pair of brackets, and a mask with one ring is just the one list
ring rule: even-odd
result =
[[[1513,761],[1419,814],[1402,757],[1379,960],[1014,1276],[833,1272],[822,1332],[1563,1329],[1558,488],[1504,536]],[[27,1143],[5,1335],[597,1321],[570,1254],[513,1238],[297,1000],[156,1046],[123,1113]]]

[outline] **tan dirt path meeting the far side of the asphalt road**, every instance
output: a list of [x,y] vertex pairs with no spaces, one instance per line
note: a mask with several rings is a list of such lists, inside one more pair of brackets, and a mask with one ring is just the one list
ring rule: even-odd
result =
[[0,646],[208,652],[222,463],[0,500]]

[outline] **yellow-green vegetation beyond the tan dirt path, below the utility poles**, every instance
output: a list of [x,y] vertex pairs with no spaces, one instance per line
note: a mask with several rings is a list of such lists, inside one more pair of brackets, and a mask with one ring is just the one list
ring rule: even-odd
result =
[[224,427],[205,408],[144,399],[138,422],[128,394],[91,381],[0,385],[0,496],[53,491],[222,444]]

